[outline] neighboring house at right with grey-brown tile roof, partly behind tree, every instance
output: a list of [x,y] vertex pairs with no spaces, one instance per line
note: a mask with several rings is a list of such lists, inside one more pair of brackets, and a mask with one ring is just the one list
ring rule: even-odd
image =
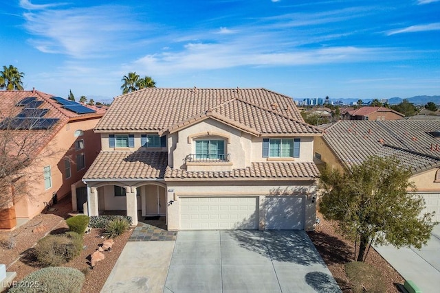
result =
[[440,121],[338,121],[315,142],[315,156],[342,172],[368,156],[396,156],[408,167],[426,211],[440,221]]

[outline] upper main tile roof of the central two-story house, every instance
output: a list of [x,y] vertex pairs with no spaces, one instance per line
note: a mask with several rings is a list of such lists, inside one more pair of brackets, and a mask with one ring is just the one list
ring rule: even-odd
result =
[[208,116],[256,134],[320,133],[291,97],[267,89],[142,89],[115,97],[95,130],[164,132]]

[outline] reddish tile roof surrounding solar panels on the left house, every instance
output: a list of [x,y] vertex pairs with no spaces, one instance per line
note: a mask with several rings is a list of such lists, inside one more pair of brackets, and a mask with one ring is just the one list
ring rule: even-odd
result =
[[[69,121],[76,121],[78,119],[98,119],[104,115],[105,110],[97,109],[96,113],[90,114],[77,114],[62,107],[56,101],[51,99],[53,95],[43,93],[41,91],[0,91],[0,120],[3,121],[6,117],[15,117],[23,110],[24,106],[16,106],[25,97],[36,97],[36,100],[43,102],[38,108],[48,109],[44,118],[59,119],[54,126],[48,130],[8,130],[13,131],[16,135],[25,136],[25,132],[32,131],[33,137],[39,141],[38,146],[33,145],[36,148],[35,153],[39,153],[41,149],[53,139],[56,133],[65,126]],[[84,105],[89,108],[88,105]],[[94,109],[95,110],[95,109]],[[4,132],[6,130],[0,130]],[[40,137],[41,136],[41,137]],[[38,139],[37,139],[38,137]]]

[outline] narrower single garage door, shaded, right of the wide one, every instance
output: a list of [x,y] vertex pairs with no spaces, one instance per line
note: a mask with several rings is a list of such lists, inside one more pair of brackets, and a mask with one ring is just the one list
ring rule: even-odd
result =
[[304,196],[268,196],[263,207],[267,230],[304,229]]

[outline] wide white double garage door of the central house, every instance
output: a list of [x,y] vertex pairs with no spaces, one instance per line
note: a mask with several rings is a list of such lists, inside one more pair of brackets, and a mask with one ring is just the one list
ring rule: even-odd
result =
[[256,197],[180,198],[181,230],[256,229]]

